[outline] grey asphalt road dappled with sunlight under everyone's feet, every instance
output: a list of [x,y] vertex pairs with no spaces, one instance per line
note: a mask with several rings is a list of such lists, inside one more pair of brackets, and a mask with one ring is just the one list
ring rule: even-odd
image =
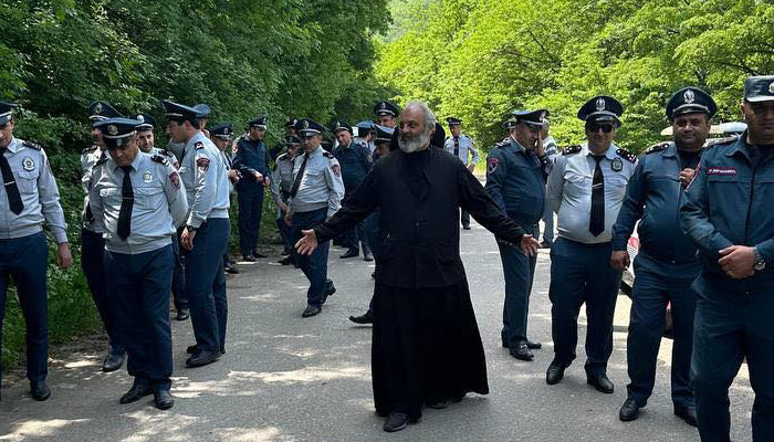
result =
[[[0,441],[698,441],[698,432],[672,415],[669,354],[665,340],[656,392],[639,420],[623,423],[626,398],[626,332],[629,302],[619,296],[615,350],[608,375],[614,394],[588,387],[578,359],[557,386],[545,383],[552,359],[547,299],[548,254],[541,252],[532,295],[530,334],[544,344],[533,362],[500,347],[503,276],[492,235],[478,224],[463,231],[461,250],[487,350],[491,393],[469,394],[447,410],[427,410],[422,421],[388,434],[373,409],[370,327],[347,320],[367,306],[373,263],[339,260],[332,249],[330,276],[338,292],[323,313],[302,319],[306,280],[278,255],[241,264],[229,277],[228,354],[218,362],[184,368],[192,344],[190,323],[174,323],[175,407],[159,411],[147,400],[122,406],[129,388],[124,370],[103,373],[103,348],[65,355],[51,369],[52,397],[35,402],[27,382],[6,386]],[[585,318],[580,318],[585,329]],[[752,390],[743,368],[731,391],[733,436],[750,441]]]

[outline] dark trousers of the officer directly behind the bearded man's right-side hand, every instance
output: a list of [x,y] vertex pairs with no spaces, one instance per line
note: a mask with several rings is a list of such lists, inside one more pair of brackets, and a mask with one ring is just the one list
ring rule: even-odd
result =
[[[537,225],[522,225],[533,238],[538,235]],[[505,304],[503,305],[503,345],[515,348],[526,341],[526,323],[530,316],[530,293],[535,277],[537,254],[527,256],[516,245],[498,241],[500,259],[505,276]]]

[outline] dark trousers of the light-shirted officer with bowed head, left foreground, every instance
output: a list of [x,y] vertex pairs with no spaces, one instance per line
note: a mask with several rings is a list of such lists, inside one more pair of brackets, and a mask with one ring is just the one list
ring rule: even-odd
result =
[[171,245],[136,255],[105,252],[111,309],[124,338],[126,369],[135,385],[169,390],[172,337],[169,290],[175,256]]

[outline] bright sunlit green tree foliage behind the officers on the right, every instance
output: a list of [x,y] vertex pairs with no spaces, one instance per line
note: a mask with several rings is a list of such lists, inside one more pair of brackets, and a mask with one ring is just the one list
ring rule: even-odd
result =
[[[511,109],[546,107],[561,144],[579,143],[576,112],[607,94],[626,107],[618,141],[641,150],[687,85],[710,92],[717,120],[739,116],[743,78],[774,72],[774,6],[761,0],[394,0],[400,29],[378,48],[395,98],[456,115],[479,146],[504,136]],[[420,17],[425,21],[411,20]]]

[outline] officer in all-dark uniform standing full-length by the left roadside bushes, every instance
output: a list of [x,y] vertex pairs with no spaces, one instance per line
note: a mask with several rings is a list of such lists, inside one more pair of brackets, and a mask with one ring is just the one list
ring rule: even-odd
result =
[[263,213],[263,187],[271,183],[269,178],[269,154],[263,143],[266,134],[266,117],[259,117],[248,123],[249,133],[237,141],[234,169],[242,179],[237,183],[239,203],[239,242],[242,260],[254,262],[257,257],[266,257],[255,249]]

